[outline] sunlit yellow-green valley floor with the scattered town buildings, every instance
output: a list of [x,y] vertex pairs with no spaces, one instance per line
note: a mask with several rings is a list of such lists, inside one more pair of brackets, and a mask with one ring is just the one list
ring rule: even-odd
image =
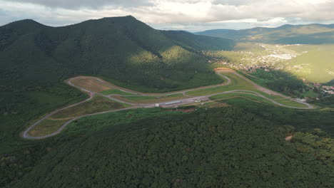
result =
[[[208,51],[210,63],[240,71],[285,71],[309,83],[334,79],[334,46],[238,43],[233,51]],[[321,74],[320,74],[321,73]]]

